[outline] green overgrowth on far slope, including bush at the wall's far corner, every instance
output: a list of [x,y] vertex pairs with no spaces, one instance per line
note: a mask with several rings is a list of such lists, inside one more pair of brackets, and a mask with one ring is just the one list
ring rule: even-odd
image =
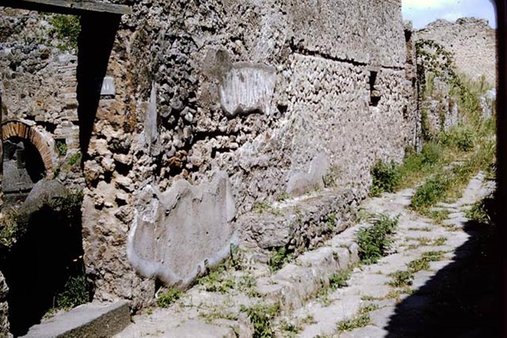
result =
[[[378,160],[371,169],[373,185],[371,195],[394,192],[413,186],[430,176],[418,187],[412,207],[427,216],[439,220],[439,214],[430,214],[429,207],[437,202],[459,196],[466,184],[479,170],[494,176],[495,118],[484,119],[480,97],[490,85],[485,77],[472,81],[459,76],[454,67],[453,54],[432,40],[416,43],[418,56],[417,74],[419,92],[424,97],[433,95],[434,81],[450,86],[450,95],[457,98],[460,124],[449,131],[429,132],[427,111],[421,107],[421,124],[424,138],[422,151],[407,152],[401,164]],[[465,159],[464,163],[449,168],[452,162]],[[441,221],[442,219],[440,219]]]

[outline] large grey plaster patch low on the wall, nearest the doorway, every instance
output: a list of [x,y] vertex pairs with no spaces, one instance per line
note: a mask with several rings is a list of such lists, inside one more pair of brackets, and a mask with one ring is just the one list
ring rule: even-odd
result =
[[210,183],[174,183],[165,193],[148,185],[137,197],[127,255],[142,276],[185,287],[206,266],[218,264],[236,241],[236,213],[229,177]]

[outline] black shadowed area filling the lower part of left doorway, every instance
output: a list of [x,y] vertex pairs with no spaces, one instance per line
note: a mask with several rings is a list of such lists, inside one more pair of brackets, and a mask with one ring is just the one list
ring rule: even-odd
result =
[[30,208],[23,205],[15,218],[20,233],[17,241],[0,247],[0,270],[9,287],[9,322],[14,336],[25,334],[55,307],[73,307],[73,297],[85,297],[82,303],[91,300],[91,290],[83,290],[79,284],[88,285],[81,209],[69,210],[67,197],[50,201],[25,214]]

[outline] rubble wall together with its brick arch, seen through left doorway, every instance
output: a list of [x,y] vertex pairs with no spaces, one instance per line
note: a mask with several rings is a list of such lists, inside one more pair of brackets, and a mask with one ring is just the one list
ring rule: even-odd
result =
[[78,57],[73,50],[54,47],[61,41],[50,39],[49,18],[50,14],[0,10],[3,126],[29,126],[33,135],[44,135],[37,141],[24,133],[23,128],[11,128],[8,137],[20,137],[38,147],[40,155],[46,158],[43,161],[48,176],[58,177],[68,184],[84,185],[81,170],[70,170],[68,165],[69,161],[76,161],[80,150],[76,95]]

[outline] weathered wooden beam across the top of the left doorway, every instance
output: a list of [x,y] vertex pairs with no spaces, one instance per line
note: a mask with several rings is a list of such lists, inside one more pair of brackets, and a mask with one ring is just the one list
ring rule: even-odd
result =
[[0,0],[0,6],[20,8],[32,11],[62,14],[132,14],[132,9],[125,5],[98,3],[89,0]]

